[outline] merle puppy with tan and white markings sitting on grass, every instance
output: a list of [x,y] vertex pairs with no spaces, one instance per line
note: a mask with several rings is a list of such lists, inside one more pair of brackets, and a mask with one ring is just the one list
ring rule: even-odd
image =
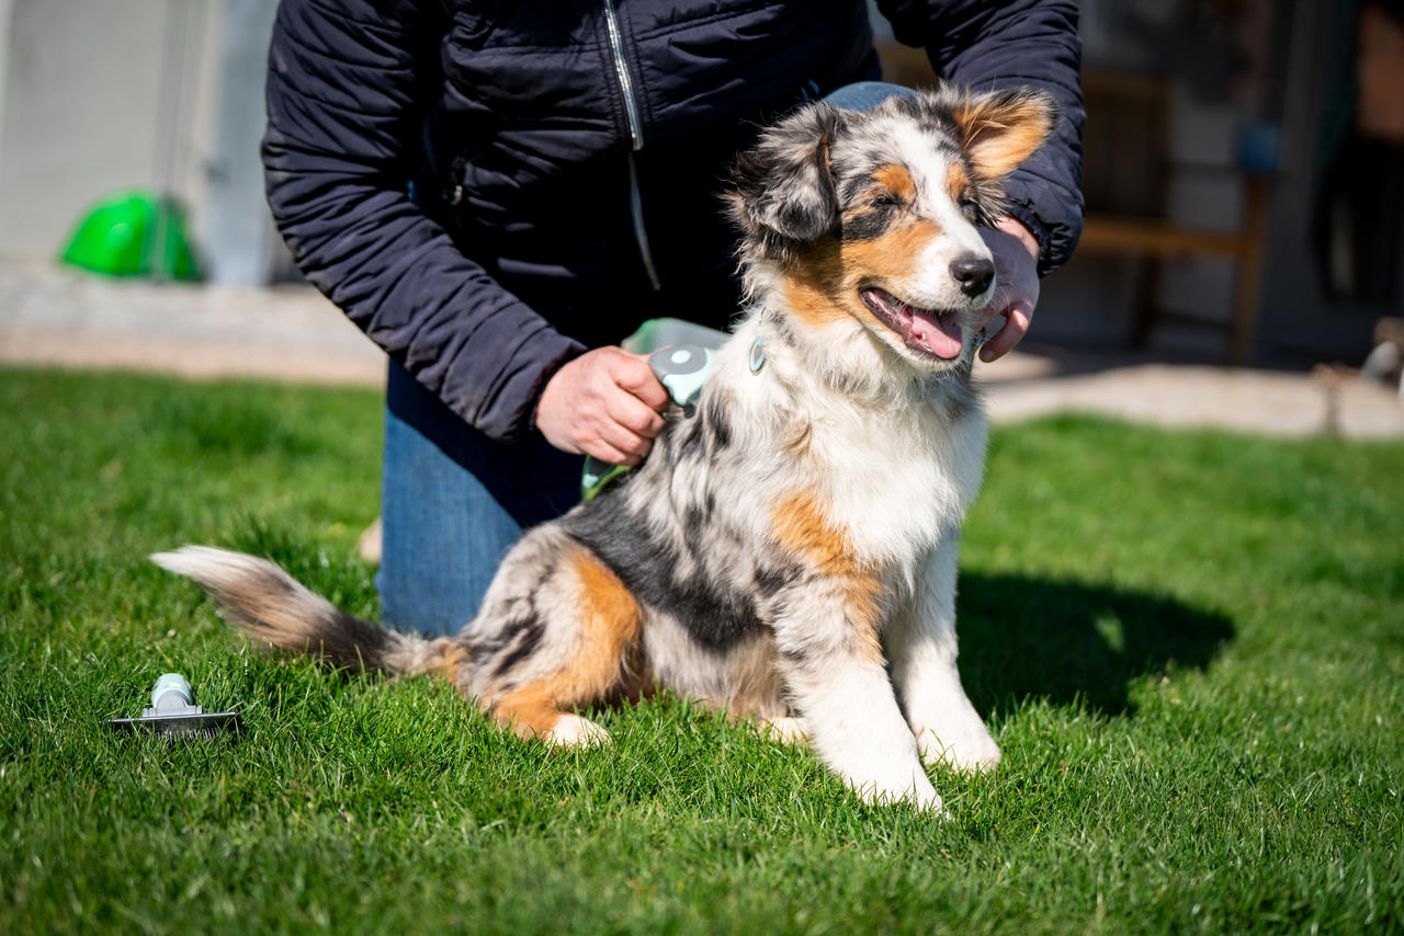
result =
[[528,530],[455,637],[359,620],[263,559],[153,560],[254,640],[446,678],[522,737],[607,741],[578,709],[664,686],[807,738],[868,801],[943,813],[924,762],[1000,761],[956,671],[994,289],[976,227],[1054,119],[1038,91],[941,88],[762,131],[727,194],[747,307],[701,397],[639,469]]

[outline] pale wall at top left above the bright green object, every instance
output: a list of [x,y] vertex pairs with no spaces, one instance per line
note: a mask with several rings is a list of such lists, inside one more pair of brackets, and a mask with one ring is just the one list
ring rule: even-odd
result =
[[170,80],[185,112],[166,159],[198,209],[219,4],[0,0],[0,255],[52,257],[94,199],[156,181],[166,27],[181,4],[184,67]]

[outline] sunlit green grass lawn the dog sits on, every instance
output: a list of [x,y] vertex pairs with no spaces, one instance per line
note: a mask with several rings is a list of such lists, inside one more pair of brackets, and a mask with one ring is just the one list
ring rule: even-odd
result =
[[[254,549],[358,613],[373,394],[0,372],[0,932],[1404,928],[1404,445],[1000,429],[955,818],[677,699],[549,754],[428,679],[240,643],[145,561]],[[153,679],[236,742],[121,741]]]

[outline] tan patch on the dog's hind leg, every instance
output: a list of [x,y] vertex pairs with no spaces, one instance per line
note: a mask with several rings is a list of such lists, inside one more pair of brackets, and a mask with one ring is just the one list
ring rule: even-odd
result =
[[491,702],[493,714],[519,737],[545,734],[564,710],[616,695],[637,695],[636,650],[643,612],[619,577],[584,547],[567,556],[580,613],[576,654],[557,672]]

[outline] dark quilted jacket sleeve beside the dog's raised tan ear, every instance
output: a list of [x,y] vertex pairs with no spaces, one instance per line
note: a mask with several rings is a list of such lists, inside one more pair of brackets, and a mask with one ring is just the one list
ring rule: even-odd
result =
[[1082,44],[1070,0],[879,0],[893,35],[922,46],[936,74],[974,91],[1031,86],[1053,95],[1049,142],[1008,180],[1011,215],[1039,240],[1039,274],[1064,262],[1082,233]]

